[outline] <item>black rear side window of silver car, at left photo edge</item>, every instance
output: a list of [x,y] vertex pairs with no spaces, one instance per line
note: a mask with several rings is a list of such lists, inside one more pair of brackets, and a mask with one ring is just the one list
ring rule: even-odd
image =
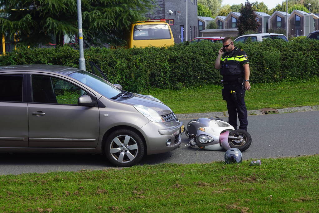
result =
[[22,74],[0,75],[0,101],[22,102]]

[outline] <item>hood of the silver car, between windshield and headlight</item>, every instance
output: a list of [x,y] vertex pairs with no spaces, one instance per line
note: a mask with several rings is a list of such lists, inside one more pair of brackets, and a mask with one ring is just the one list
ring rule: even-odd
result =
[[159,115],[171,114],[173,112],[169,107],[161,103],[159,100],[136,93],[133,93],[133,96],[128,99],[121,100],[121,102],[150,107],[151,109],[155,110]]

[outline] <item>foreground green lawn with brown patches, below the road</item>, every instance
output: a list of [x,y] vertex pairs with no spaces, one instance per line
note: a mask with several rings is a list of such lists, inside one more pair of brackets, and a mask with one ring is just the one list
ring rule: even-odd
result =
[[0,212],[316,212],[319,156],[0,176]]

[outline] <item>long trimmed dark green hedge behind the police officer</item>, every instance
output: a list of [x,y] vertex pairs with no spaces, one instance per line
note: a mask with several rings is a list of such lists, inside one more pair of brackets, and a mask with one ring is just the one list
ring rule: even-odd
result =
[[[95,62],[112,83],[139,92],[156,88],[218,84],[221,80],[214,63],[221,43],[196,42],[168,48],[89,48],[84,52],[86,70]],[[250,61],[253,83],[296,81],[319,75],[319,40],[305,38],[290,42],[264,40],[239,43]],[[0,66],[55,64],[78,67],[78,50],[62,48],[19,48],[0,56]]]

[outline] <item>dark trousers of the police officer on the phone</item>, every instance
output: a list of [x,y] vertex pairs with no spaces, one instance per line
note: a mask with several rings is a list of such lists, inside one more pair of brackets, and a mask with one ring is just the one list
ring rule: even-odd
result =
[[[231,93],[235,91],[235,93]],[[223,99],[227,102],[228,123],[237,129],[237,114],[239,129],[247,130],[247,108],[245,104],[245,88],[242,84],[224,84]]]

